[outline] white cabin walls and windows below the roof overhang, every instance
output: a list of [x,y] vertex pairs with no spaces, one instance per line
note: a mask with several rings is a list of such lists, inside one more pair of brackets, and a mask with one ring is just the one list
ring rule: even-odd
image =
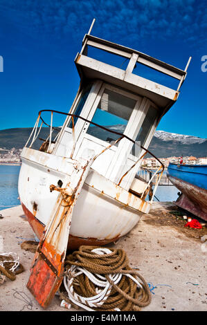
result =
[[[74,118],[74,133],[71,117],[66,118],[55,154],[71,155],[73,159],[82,156],[84,149],[93,149],[96,154],[120,138],[116,131],[147,147],[152,139],[159,115],[158,109],[146,97],[129,93],[100,80],[84,87],[70,113],[80,115],[93,123],[107,128],[97,127],[80,118]],[[73,140],[75,134],[75,148]],[[93,163],[92,168],[107,179],[118,183],[125,172],[136,163],[143,154],[139,146],[123,138],[102,153]],[[130,171],[120,186],[129,189],[138,170]]]

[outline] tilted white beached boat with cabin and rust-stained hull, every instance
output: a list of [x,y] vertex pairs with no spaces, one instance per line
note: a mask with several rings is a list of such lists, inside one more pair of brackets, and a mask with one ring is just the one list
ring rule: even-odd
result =
[[[81,159],[93,160],[73,210],[71,249],[114,242],[132,230],[143,214],[150,212],[152,201],[147,201],[147,194],[152,189],[152,178],[146,182],[138,176],[141,160],[145,154],[151,154],[147,147],[159,121],[177,101],[190,62],[189,59],[185,70],[181,70],[138,50],[94,37],[91,28],[75,57],[80,86],[71,109],[69,113],[54,109],[39,111],[21,152],[19,174],[21,205],[40,239],[60,205],[60,198],[69,195],[75,164]],[[114,62],[117,56],[123,57],[128,61],[127,67],[118,68],[116,64],[102,62],[104,59],[90,57],[91,48],[111,53]],[[179,80],[177,89],[136,75],[133,73],[136,64]],[[57,128],[55,115],[60,114],[65,121]],[[50,122],[46,122],[46,115]],[[34,149],[42,125],[48,126],[48,138],[39,149]],[[163,170],[163,164],[159,163],[153,176],[156,186]],[[78,177],[81,179],[80,174]]]

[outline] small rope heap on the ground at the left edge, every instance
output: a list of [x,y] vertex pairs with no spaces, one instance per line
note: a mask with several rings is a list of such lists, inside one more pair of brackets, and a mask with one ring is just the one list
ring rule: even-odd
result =
[[6,277],[11,281],[16,275],[23,272],[24,267],[19,263],[19,256],[14,252],[0,254],[0,284],[3,284]]

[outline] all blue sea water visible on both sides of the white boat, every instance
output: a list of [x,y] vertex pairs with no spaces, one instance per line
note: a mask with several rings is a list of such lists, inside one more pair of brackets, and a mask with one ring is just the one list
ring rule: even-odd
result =
[[[19,205],[18,178],[20,166],[0,165],[0,210]],[[170,185],[159,185],[154,201],[176,201],[179,190]]]

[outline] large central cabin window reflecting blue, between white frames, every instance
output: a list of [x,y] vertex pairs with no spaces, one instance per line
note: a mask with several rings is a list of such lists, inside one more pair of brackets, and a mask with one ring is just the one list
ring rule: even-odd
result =
[[[136,100],[105,89],[93,115],[92,122],[107,127],[112,131],[124,133],[135,104]],[[117,134],[100,129],[93,124],[90,124],[87,133],[107,142],[120,138]]]

